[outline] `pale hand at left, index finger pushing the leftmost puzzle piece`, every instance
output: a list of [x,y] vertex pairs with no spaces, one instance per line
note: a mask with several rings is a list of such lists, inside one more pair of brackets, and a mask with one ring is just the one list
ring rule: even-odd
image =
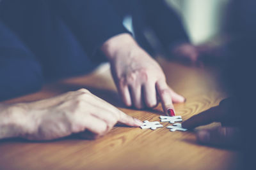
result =
[[86,89],[33,103],[14,104],[7,110],[15,115],[9,122],[18,120],[8,131],[19,129],[11,133],[30,140],[51,140],[74,133],[84,136],[85,131],[97,138],[110,131],[116,122],[132,127],[142,124]]

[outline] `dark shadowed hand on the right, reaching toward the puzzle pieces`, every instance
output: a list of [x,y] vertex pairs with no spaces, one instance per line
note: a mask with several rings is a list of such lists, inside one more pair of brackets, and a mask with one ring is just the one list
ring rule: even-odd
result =
[[236,104],[232,99],[221,101],[220,106],[216,106],[198,115],[195,115],[182,123],[182,127],[193,129],[200,125],[221,122],[221,126],[200,130],[196,133],[199,143],[218,146],[238,146],[241,143],[241,129],[239,126],[239,114],[237,110],[232,110]]

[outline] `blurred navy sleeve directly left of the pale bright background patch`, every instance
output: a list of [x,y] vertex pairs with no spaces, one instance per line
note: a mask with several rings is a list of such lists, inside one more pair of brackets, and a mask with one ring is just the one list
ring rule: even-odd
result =
[[163,0],[141,0],[147,22],[165,48],[180,42],[189,42],[188,35],[177,13]]

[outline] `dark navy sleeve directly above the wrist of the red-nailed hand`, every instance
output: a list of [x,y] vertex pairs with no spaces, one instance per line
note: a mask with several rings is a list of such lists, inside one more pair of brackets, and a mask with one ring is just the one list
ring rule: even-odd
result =
[[55,8],[92,56],[107,39],[128,32],[106,0],[57,1]]

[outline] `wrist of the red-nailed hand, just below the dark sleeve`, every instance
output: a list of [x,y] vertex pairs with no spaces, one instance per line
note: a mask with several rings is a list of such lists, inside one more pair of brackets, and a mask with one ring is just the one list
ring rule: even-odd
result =
[[131,34],[124,33],[118,34],[109,38],[101,47],[102,52],[108,57],[109,60],[113,60],[120,50],[129,50],[138,46],[136,41],[132,38]]

